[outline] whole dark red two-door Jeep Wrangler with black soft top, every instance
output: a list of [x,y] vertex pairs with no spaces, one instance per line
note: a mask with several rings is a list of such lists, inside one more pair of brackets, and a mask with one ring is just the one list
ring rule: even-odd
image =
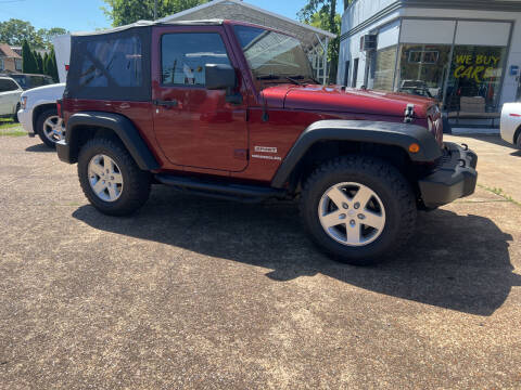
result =
[[300,197],[334,258],[399,249],[418,209],[473,193],[478,157],[442,141],[434,101],[320,86],[301,42],[231,21],[139,22],[73,36],[63,161],[101,212],[140,208],[152,183],[259,202]]

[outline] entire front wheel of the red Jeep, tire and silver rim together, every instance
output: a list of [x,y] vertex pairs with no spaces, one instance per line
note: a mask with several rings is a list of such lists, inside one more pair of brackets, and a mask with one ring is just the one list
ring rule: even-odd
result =
[[407,180],[369,156],[340,157],[317,168],[303,186],[300,207],[313,240],[354,265],[396,252],[416,224],[416,198]]

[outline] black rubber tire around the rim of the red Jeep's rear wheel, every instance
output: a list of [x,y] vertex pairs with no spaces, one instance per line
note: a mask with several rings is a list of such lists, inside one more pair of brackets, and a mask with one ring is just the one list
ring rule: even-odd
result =
[[[88,166],[91,158],[99,154],[111,157],[120,169],[124,186],[115,202],[104,202],[90,185]],[[150,195],[150,172],[139,169],[125,146],[115,139],[94,138],[87,141],[79,152],[78,178],[87,199],[98,210],[110,216],[128,216],[136,212]]]

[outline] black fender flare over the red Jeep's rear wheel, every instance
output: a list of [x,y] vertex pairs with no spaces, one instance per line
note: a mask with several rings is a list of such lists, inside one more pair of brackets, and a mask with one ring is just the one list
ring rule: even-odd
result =
[[160,168],[160,164],[132,121],[123,115],[103,112],[81,112],[73,114],[68,118],[65,140],[56,143],[61,160],[68,164],[78,160],[81,127],[105,128],[114,131],[140,169],[155,170]]

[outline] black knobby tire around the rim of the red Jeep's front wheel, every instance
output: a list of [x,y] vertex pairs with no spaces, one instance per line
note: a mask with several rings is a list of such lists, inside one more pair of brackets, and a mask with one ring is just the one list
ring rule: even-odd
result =
[[[360,183],[372,190],[385,209],[381,235],[365,246],[347,246],[331,238],[323,230],[318,208],[331,186]],[[415,231],[417,207],[415,194],[404,176],[389,162],[370,156],[344,156],[325,162],[305,180],[300,203],[301,217],[312,239],[334,260],[369,265],[399,251]]]

